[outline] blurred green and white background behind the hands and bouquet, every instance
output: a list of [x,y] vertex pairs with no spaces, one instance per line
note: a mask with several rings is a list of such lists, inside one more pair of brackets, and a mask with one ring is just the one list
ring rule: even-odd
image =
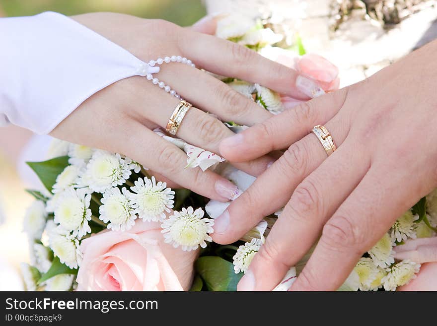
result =
[[[207,12],[269,17],[297,32],[307,52],[337,65],[341,86],[437,38],[437,0],[0,0],[0,17],[47,10],[123,12],[183,26]],[[24,161],[43,160],[43,143],[27,130],[0,128],[0,290],[22,288],[19,262],[29,261],[22,221],[32,202],[24,189],[35,187]]]

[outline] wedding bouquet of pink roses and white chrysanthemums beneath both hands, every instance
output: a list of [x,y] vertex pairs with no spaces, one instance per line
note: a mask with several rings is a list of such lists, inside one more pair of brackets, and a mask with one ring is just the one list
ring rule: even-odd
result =
[[[218,21],[216,33],[317,80],[321,92],[338,88],[337,68],[305,54],[298,35],[281,26],[227,16]],[[216,77],[273,114],[301,102],[258,84]],[[234,132],[247,128],[224,124]],[[239,189],[234,199],[255,180],[215,153],[164,130],[154,132],[187,154],[187,169],[214,169],[233,182]],[[214,219],[230,201],[171,190],[122,154],[54,140],[48,160],[28,164],[45,190],[28,190],[36,201],[24,219],[31,253],[30,264],[21,266],[27,290],[234,291],[281,214],[266,216],[239,241],[219,245],[211,238]],[[435,236],[436,225],[434,193],[395,222],[340,289],[395,290],[408,283],[420,264],[395,261],[393,247],[409,238]],[[275,290],[288,290],[310,255]]]

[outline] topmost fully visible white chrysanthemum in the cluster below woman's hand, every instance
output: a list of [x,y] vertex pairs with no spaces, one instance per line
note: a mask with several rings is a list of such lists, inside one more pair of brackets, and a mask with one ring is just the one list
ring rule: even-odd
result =
[[123,185],[132,172],[120,154],[96,150],[80,178],[80,185],[96,193],[104,193],[112,187]]

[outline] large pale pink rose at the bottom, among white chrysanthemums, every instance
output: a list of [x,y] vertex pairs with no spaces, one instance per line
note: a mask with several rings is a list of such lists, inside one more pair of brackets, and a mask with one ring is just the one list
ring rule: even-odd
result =
[[141,220],[129,231],[99,232],[80,249],[78,291],[188,290],[198,255],[165,244],[160,224]]

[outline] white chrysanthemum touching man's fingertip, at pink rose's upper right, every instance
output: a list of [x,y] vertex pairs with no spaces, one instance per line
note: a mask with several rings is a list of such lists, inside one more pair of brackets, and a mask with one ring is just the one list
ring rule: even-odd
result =
[[181,246],[183,251],[196,250],[199,245],[205,248],[206,241],[213,241],[209,234],[214,232],[214,220],[204,218],[204,214],[202,208],[194,210],[191,206],[174,211],[161,224],[164,241],[174,248]]

